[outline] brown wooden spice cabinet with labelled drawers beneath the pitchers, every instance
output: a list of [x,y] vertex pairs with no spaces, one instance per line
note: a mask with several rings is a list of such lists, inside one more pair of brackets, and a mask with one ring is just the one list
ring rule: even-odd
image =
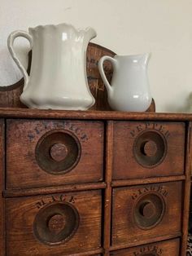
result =
[[0,255],[185,255],[191,115],[0,109]]

